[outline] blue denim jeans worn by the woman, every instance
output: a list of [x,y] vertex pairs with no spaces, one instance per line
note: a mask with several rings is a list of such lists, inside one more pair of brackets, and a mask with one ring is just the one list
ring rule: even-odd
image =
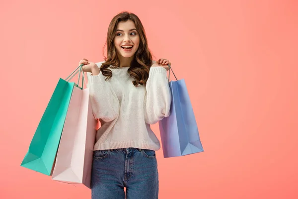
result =
[[[124,193],[126,187],[126,193]],[[155,151],[123,148],[93,153],[92,199],[158,199]]]

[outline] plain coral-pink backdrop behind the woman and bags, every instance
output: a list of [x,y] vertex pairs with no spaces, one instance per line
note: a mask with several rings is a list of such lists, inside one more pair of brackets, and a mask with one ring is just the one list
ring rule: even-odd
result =
[[[205,152],[164,159],[160,199],[298,198],[298,2],[0,2],[0,198],[87,199],[90,190],[20,166],[59,78],[103,60],[108,24],[142,20],[191,97]],[[173,77],[173,76],[172,76]],[[158,138],[158,125],[152,126]]]

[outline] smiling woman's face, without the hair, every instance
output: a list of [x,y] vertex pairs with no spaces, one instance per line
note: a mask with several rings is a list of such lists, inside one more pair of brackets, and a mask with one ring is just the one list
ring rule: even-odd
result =
[[120,21],[118,23],[114,44],[118,56],[130,58],[135,55],[139,48],[140,36],[132,20]]

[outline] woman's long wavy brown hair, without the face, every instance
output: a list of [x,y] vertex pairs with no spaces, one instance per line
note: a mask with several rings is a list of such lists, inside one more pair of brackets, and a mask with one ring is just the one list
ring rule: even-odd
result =
[[117,56],[114,38],[116,36],[118,23],[120,21],[127,20],[132,20],[135,23],[136,29],[140,35],[140,45],[134,55],[134,59],[131,63],[130,68],[128,69],[128,73],[135,79],[133,81],[133,84],[135,86],[138,86],[139,84],[146,86],[149,77],[149,70],[152,65],[152,54],[148,47],[148,41],[146,38],[144,26],[139,17],[134,13],[124,11],[114,16],[111,20],[107,33],[107,41],[104,45],[107,47],[107,57],[103,53],[105,62],[101,65],[100,71],[102,75],[107,77],[106,80],[109,80],[113,74],[112,71],[108,69],[108,67],[110,65],[111,68],[120,67],[120,60]]

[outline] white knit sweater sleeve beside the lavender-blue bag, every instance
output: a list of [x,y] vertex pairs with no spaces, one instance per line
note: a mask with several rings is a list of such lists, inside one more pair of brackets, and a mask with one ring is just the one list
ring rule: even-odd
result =
[[145,122],[155,124],[170,114],[171,91],[163,67],[152,67],[146,84]]

